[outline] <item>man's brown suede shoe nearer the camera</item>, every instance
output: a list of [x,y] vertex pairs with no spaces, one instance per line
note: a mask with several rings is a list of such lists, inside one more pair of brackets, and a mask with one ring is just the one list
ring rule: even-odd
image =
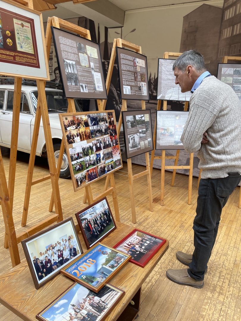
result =
[[168,269],[166,271],[166,276],[171,281],[181,284],[181,285],[190,285],[193,288],[201,289],[204,285],[204,281],[196,281],[193,278],[191,278],[188,273],[187,269],[181,269],[181,270],[171,270]]

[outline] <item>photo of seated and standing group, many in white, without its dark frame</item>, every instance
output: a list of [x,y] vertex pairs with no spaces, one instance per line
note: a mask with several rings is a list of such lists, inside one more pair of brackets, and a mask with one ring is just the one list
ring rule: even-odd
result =
[[82,254],[78,244],[71,221],[27,242],[26,247],[38,282],[41,283],[52,273],[59,271],[64,264]]

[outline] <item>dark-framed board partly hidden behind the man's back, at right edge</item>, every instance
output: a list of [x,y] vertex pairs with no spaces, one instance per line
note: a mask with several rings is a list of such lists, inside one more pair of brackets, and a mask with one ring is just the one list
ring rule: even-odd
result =
[[232,87],[241,101],[241,64],[218,64],[217,78]]

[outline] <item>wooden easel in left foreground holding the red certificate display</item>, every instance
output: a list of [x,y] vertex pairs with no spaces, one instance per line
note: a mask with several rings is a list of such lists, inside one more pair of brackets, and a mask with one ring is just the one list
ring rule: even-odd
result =
[[[9,1],[10,2],[10,1]],[[11,2],[10,2],[11,3]],[[16,6],[21,7],[21,5],[25,5],[26,10],[30,12],[36,13],[33,10],[33,3],[32,0],[14,0],[12,2]],[[21,4],[21,5],[20,5]],[[40,20],[42,20],[40,16]],[[43,34],[43,25],[41,24],[42,34]],[[43,38],[44,40],[44,38]],[[45,61],[46,61],[46,68],[48,71],[48,64],[47,64],[47,54],[45,52]],[[13,121],[12,121],[12,137],[11,137],[11,151],[10,151],[10,166],[9,166],[9,184],[7,188],[2,155],[0,155],[1,166],[0,166],[0,198],[1,198],[1,205],[3,210],[4,216],[4,223],[5,223],[5,240],[4,240],[4,247],[9,247],[10,256],[12,265],[15,266],[20,263],[20,257],[18,252],[18,243],[21,240],[27,238],[28,236],[42,230],[46,226],[52,224],[54,221],[62,220],[62,209],[61,209],[61,202],[60,202],[60,195],[59,195],[59,188],[58,188],[58,179],[57,179],[57,172],[54,160],[54,152],[53,152],[53,144],[51,138],[51,131],[49,125],[49,115],[48,115],[48,108],[47,108],[47,101],[45,95],[45,83],[46,81],[39,78],[37,79],[37,88],[38,88],[38,103],[37,103],[37,111],[36,111],[36,118],[35,124],[40,123],[40,117],[42,115],[42,122],[44,127],[44,135],[46,140],[46,148],[49,158],[49,169],[51,173],[51,183],[52,189],[54,193],[54,202],[57,208],[57,214],[52,215],[48,220],[42,221],[36,226],[32,227],[30,230],[22,232],[18,235],[15,233],[14,223],[13,223],[13,194],[14,194],[14,183],[15,183],[15,171],[16,171],[16,155],[17,155],[17,142],[18,142],[18,128],[19,128],[19,114],[20,114],[20,102],[21,102],[21,86],[22,86],[22,77],[19,75],[14,75],[14,96],[13,96]],[[36,76],[26,76],[21,75],[25,78],[36,79]],[[34,130],[36,134],[36,130]],[[33,137],[34,137],[33,133]]]

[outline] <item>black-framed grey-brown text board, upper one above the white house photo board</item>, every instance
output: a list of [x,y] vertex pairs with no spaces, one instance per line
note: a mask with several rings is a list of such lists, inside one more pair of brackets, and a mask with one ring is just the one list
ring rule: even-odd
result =
[[121,99],[149,100],[147,57],[116,47]]

